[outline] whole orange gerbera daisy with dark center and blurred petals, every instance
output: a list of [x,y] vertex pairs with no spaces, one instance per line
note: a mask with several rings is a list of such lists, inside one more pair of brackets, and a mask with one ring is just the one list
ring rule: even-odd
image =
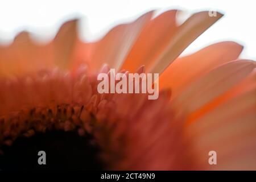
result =
[[[220,13],[199,12],[180,25],[177,10],[153,13],[97,42],[82,42],[71,20],[48,44],[21,32],[1,46],[1,168],[17,167],[10,165],[29,145],[52,145],[49,156],[66,146],[57,156],[77,143],[84,147],[68,157],[85,158],[82,169],[256,169],[255,62],[238,59],[235,42],[178,57]],[[159,98],[98,93],[97,75],[110,68],[159,73]],[[209,151],[217,152],[217,165],[208,163]]]

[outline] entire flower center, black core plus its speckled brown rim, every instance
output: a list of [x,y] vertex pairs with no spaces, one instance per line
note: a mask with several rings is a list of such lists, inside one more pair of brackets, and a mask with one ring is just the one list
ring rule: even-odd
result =
[[[0,169],[102,169],[93,122],[79,105],[36,107],[0,119]],[[39,151],[46,152],[45,165],[38,163]]]

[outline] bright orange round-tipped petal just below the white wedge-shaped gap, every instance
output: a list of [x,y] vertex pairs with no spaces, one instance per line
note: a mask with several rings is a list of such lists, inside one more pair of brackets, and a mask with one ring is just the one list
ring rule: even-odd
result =
[[218,65],[236,60],[242,48],[240,44],[234,42],[220,42],[192,55],[178,58],[160,75],[160,89],[171,88],[172,98],[174,98],[189,82],[203,76]]

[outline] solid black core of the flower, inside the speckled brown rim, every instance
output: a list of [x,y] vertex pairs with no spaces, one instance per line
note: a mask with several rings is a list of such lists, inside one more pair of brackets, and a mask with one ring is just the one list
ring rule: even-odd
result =
[[[79,136],[76,131],[47,131],[19,137],[11,146],[2,146],[0,169],[103,169],[99,148],[91,144],[92,136]],[[46,152],[46,164],[39,165],[39,151]]]

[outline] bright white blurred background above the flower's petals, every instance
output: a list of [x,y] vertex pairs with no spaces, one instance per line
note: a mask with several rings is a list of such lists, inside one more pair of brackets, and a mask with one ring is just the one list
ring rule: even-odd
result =
[[0,43],[10,43],[22,30],[33,32],[35,39],[47,42],[61,23],[81,18],[82,39],[101,38],[118,23],[129,22],[148,10],[161,13],[184,10],[179,21],[200,10],[220,11],[225,16],[196,39],[183,55],[211,43],[234,40],[243,46],[242,57],[256,59],[256,13],[253,0],[0,0]]

